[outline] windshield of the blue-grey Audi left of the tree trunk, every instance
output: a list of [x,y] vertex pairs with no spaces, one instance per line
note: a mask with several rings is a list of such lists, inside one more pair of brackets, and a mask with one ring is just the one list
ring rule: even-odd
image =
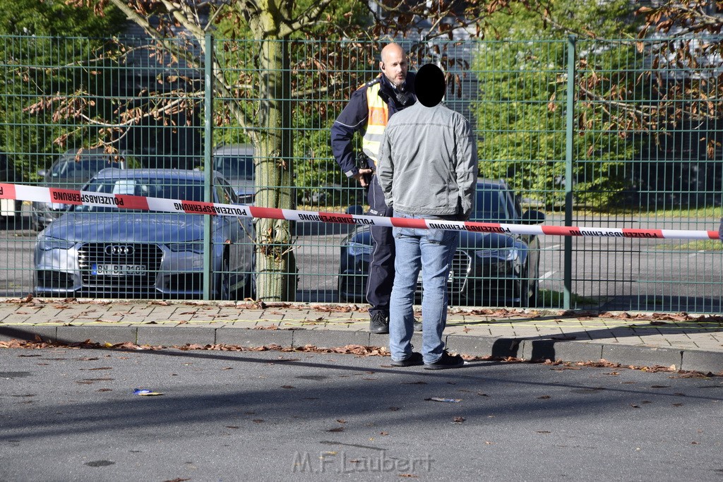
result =
[[[204,187],[201,180],[179,178],[101,178],[94,179],[83,190],[104,194],[180,199],[182,201],[202,202],[204,199]],[[111,206],[75,206],[74,210],[76,212],[114,212],[119,209]]]

